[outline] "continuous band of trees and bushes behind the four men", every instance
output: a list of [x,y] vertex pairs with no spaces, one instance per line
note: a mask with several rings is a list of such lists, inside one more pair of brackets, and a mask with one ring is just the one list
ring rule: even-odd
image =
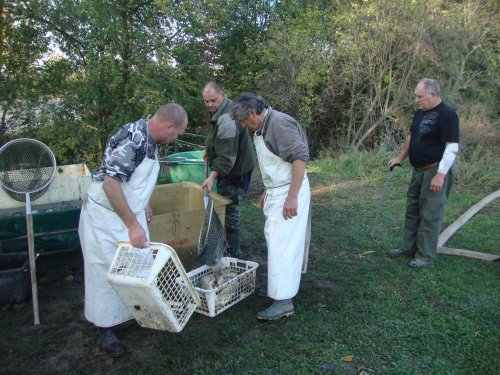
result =
[[313,156],[399,145],[424,76],[498,144],[493,0],[2,0],[0,16],[0,142],[29,135],[60,164],[97,166],[114,129],[169,101],[203,133],[212,79],[298,118]]

